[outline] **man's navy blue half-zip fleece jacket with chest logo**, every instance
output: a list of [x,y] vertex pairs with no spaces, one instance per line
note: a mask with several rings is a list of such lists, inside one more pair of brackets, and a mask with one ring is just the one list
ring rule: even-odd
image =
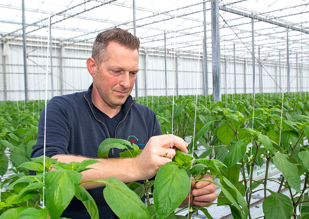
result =
[[[47,103],[46,156],[71,154],[98,157],[99,144],[110,134],[93,110],[91,90],[92,85],[88,91],[56,96]],[[126,99],[123,112],[115,138],[128,140],[143,149],[150,137],[162,134],[155,113],[149,107],[136,103],[131,96]],[[37,143],[32,147],[31,157],[43,155],[44,113],[45,108],[40,115]],[[112,155],[110,150],[109,157],[119,157],[121,151],[115,148]],[[105,202],[102,191],[103,187],[88,190],[98,206],[100,218],[117,218]],[[90,218],[83,203],[75,197],[62,217]]]

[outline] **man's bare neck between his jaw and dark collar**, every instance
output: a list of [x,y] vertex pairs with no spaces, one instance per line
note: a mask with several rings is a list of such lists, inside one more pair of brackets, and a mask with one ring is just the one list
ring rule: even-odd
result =
[[121,106],[110,107],[108,106],[104,100],[100,97],[98,90],[93,86],[91,91],[91,100],[92,103],[97,107],[101,112],[104,112],[108,117],[112,118],[118,114],[121,110]]

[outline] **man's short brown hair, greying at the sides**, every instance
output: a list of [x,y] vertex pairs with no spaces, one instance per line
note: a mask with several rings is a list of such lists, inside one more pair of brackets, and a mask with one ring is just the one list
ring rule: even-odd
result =
[[99,33],[95,38],[95,42],[93,43],[91,57],[95,59],[98,65],[106,59],[105,49],[108,46],[109,42],[117,42],[121,46],[127,47],[131,50],[139,49],[139,39],[136,36],[133,36],[127,30],[123,30],[121,28],[112,28],[104,30]]

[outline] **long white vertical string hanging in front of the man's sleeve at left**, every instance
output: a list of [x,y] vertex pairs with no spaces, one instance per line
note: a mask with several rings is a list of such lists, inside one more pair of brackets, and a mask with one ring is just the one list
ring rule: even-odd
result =
[[[50,25],[50,11],[49,11],[49,22],[48,22],[48,29],[49,29],[49,25]],[[44,119],[44,153],[43,153],[43,183],[45,183],[45,151],[46,151],[46,109],[47,109],[47,87],[48,87],[48,56],[49,56],[49,34],[47,36],[47,55],[46,55],[46,79],[45,79],[45,119]],[[44,201],[45,201],[45,186],[43,187],[43,208],[45,208],[44,206]]]

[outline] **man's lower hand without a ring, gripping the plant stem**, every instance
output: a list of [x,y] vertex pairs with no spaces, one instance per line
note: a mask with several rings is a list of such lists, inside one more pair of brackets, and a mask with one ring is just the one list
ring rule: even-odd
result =
[[[206,174],[202,180],[214,181],[213,177],[209,174]],[[194,188],[195,186],[195,188]],[[191,195],[190,201],[192,202],[192,197],[194,196],[193,205],[205,206],[207,204],[214,203],[214,200],[217,198],[216,194],[217,186],[211,182],[192,182],[191,183]],[[182,207],[188,206],[189,195],[184,199]]]

